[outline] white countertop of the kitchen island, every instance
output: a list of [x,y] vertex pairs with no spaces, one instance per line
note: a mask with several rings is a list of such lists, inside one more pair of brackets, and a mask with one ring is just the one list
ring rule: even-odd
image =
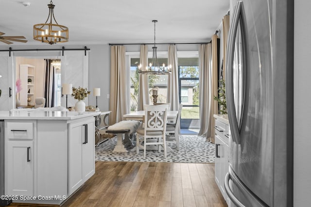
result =
[[11,110],[0,111],[0,119],[29,119],[29,120],[73,120],[89,116],[97,116],[101,111],[38,111],[38,110]]

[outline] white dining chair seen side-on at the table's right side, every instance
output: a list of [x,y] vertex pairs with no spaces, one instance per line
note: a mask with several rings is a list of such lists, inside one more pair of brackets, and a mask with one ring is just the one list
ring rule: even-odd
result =
[[182,108],[183,108],[183,105],[179,104],[176,122],[167,123],[167,126],[166,126],[166,133],[167,133],[166,141],[175,143],[177,150],[179,150],[180,117],[181,117]]

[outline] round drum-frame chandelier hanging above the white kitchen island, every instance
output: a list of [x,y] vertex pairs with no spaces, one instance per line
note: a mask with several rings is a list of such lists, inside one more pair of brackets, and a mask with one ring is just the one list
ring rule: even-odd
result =
[[[44,43],[49,43],[50,45],[68,42],[69,40],[69,30],[68,27],[59,25],[54,17],[54,7],[55,5],[51,1],[48,4],[49,16],[44,24],[34,25],[34,40],[41,41]],[[52,22],[54,19],[55,23]],[[50,22],[48,23],[48,21]]]

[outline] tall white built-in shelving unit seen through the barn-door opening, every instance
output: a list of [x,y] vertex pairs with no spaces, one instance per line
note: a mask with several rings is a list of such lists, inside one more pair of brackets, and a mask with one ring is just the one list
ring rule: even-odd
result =
[[35,66],[30,64],[20,64],[19,78],[21,80],[22,88],[19,92],[20,105],[35,105]]

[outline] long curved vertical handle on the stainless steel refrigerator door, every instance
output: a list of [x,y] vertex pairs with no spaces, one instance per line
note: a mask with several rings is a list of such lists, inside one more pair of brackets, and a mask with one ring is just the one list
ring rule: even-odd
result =
[[[237,30],[239,26],[239,19],[243,16],[243,2],[239,1],[235,5],[233,9],[233,15],[232,15],[232,23],[230,23],[229,28],[229,39],[228,39],[228,46],[227,46],[227,69],[225,71],[227,79],[225,80],[226,85],[226,102],[227,102],[227,111],[228,111],[228,118],[230,123],[230,129],[232,134],[232,140],[235,143],[241,143],[240,140],[240,129],[239,124],[236,116],[236,108],[234,104],[234,87],[233,87],[233,61],[234,61],[234,48],[235,48],[235,39],[237,35]],[[244,24],[243,19],[241,19],[241,24]],[[242,25],[244,29],[244,25]],[[241,32],[245,32],[242,29]],[[244,76],[243,76],[244,77]],[[243,85],[244,88],[244,85]],[[243,90],[244,91],[244,90]],[[242,94],[244,97],[244,94]],[[243,107],[242,107],[243,108]]]

